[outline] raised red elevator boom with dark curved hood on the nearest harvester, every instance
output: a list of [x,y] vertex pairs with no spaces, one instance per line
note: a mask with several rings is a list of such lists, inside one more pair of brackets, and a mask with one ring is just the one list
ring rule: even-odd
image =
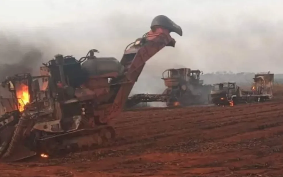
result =
[[182,36],[180,26],[166,16],[156,16],[152,20],[151,30],[125,50],[121,59],[121,64],[125,67],[124,77],[118,81],[121,84],[114,103],[104,112],[104,116],[100,116],[101,123],[106,123],[119,115],[146,61],[165,46],[175,47],[176,41],[170,36],[170,32]]

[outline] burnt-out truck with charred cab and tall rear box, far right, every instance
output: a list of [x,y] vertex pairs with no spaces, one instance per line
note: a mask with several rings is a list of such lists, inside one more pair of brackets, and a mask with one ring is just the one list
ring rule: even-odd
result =
[[250,90],[243,90],[236,82],[213,84],[210,103],[230,105],[268,101],[273,97],[274,74],[255,74]]

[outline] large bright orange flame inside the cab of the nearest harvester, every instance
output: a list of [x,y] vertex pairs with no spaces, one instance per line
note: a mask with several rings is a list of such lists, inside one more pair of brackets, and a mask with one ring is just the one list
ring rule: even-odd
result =
[[16,89],[16,95],[19,103],[19,111],[24,111],[24,105],[29,103],[28,86],[25,84],[20,84]]

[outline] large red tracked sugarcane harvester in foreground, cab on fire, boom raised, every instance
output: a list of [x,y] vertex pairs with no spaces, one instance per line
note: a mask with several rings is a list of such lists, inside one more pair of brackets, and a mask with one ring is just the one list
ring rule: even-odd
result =
[[41,67],[41,76],[7,78],[2,85],[17,104],[0,117],[0,159],[48,157],[109,144],[115,138],[109,121],[120,115],[146,61],[166,46],[175,47],[171,32],[182,36],[181,27],[163,15],[150,28],[127,46],[120,62],[96,57],[92,49],[79,60],[56,55]]

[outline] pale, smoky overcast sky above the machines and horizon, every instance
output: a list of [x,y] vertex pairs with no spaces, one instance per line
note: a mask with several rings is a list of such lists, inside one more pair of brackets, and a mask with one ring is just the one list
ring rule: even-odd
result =
[[282,7],[282,0],[1,0],[0,26],[4,35],[42,47],[45,60],[57,53],[81,57],[91,48],[120,60],[125,46],[163,14],[183,36],[172,34],[176,47],[147,63],[150,74],[182,66],[282,73]]

